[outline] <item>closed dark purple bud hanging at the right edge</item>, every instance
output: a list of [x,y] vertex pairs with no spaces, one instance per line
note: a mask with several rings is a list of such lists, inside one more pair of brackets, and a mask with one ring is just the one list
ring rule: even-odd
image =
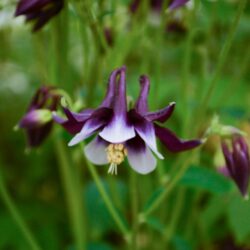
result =
[[250,176],[250,157],[246,141],[243,137],[234,137],[231,141],[231,149],[226,141],[222,142],[222,151],[226,161],[226,167],[221,172],[232,178],[244,197],[247,197],[247,189]]

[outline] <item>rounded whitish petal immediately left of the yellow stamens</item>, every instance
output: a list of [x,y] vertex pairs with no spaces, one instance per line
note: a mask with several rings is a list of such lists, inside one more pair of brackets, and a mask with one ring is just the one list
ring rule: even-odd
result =
[[85,148],[84,153],[89,161],[96,165],[104,165],[108,163],[106,147],[108,143],[96,137]]

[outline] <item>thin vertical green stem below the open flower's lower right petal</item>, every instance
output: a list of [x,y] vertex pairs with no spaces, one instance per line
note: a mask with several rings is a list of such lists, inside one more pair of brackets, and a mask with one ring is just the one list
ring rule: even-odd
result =
[[132,212],[132,244],[131,248],[137,250],[137,232],[139,227],[138,221],[138,190],[137,190],[137,174],[130,171],[130,197],[131,197],[131,212]]

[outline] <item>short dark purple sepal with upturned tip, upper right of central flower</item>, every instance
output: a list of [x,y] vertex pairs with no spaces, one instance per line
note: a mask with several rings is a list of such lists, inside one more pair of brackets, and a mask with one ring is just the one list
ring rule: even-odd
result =
[[149,121],[165,122],[172,115],[175,108],[175,102],[171,102],[167,107],[156,112],[148,112],[145,118]]

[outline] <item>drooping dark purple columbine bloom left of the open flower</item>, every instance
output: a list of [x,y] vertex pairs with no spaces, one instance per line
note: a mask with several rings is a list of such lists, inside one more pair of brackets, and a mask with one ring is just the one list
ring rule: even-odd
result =
[[38,147],[49,135],[52,126],[52,111],[57,109],[60,96],[52,87],[41,87],[33,97],[27,113],[17,125],[26,130],[29,147]]

